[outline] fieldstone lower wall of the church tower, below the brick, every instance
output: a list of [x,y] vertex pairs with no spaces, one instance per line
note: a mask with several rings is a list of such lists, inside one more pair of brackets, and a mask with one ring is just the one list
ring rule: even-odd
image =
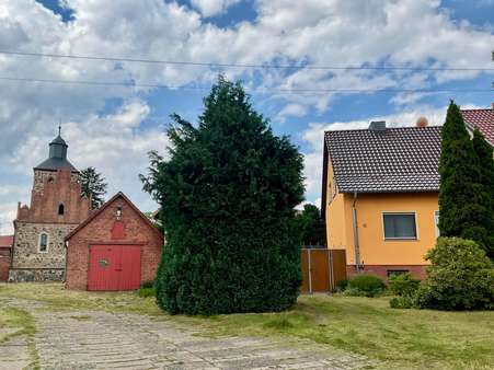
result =
[[[31,223],[15,221],[15,239],[10,281],[64,278],[66,247],[64,239],[77,224]],[[39,234],[48,234],[48,251],[39,252]],[[61,275],[59,273],[61,270]],[[31,271],[31,273],[30,273]],[[31,277],[32,276],[32,277]]]

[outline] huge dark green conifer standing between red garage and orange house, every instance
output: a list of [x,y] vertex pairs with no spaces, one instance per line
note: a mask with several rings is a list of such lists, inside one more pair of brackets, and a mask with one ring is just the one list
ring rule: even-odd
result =
[[240,83],[219,78],[204,103],[197,128],[172,116],[170,159],[151,153],[141,176],[166,234],[158,304],[186,314],[285,310],[301,281],[302,157]]

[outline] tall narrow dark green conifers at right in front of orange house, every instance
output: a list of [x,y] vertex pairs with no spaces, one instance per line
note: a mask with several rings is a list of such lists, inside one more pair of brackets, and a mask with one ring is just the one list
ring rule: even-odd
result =
[[[479,153],[484,157],[485,149],[479,147],[479,140],[475,142]],[[443,127],[439,174],[440,234],[471,239],[490,251],[493,239],[491,189],[483,184],[481,160],[453,102]]]

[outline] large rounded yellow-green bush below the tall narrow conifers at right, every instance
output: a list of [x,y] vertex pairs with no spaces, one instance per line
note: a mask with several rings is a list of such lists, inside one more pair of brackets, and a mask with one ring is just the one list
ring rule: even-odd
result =
[[479,245],[459,238],[439,238],[426,258],[427,279],[417,291],[421,308],[493,310],[494,264]]

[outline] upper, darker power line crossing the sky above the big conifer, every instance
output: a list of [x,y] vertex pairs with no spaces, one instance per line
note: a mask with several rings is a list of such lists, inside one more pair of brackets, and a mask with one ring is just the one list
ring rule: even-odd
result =
[[494,71],[494,68],[480,67],[391,67],[391,66],[317,66],[317,65],[274,65],[274,63],[219,63],[219,62],[203,62],[203,61],[186,61],[186,60],[160,60],[160,59],[143,59],[143,58],[122,58],[122,57],[99,57],[99,56],[83,56],[69,54],[48,54],[48,53],[26,53],[0,50],[0,54],[25,57],[41,57],[41,58],[66,58],[66,59],[83,59],[83,60],[105,60],[105,61],[127,61],[127,62],[143,62],[154,65],[174,65],[174,66],[200,66],[200,67],[216,67],[216,68],[260,68],[260,69],[311,69],[311,70],[398,70],[398,71],[478,71],[486,72]]

